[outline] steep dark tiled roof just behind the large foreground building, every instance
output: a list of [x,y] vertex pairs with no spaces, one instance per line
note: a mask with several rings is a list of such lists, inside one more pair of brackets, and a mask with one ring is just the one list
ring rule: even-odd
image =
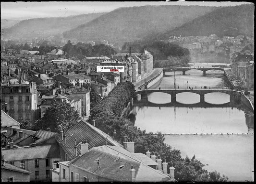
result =
[[[74,140],[77,144],[87,141],[89,149],[102,145],[115,145],[122,147],[122,144],[113,140],[108,134],[92,126],[86,121],[81,120],[71,128],[65,130],[66,143],[61,141],[61,136],[57,138],[61,148],[66,152],[69,158],[74,158]],[[80,155],[80,146],[77,147],[77,155]]]

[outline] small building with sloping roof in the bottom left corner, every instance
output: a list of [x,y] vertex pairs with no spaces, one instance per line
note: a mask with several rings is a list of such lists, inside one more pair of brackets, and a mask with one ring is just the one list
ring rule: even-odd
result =
[[31,172],[1,159],[1,182],[30,182]]

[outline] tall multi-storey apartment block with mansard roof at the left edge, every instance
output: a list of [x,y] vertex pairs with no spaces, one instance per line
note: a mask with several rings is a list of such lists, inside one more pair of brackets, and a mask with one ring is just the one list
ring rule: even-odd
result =
[[8,114],[16,121],[34,121],[39,117],[37,84],[1,84],[1,104],[7,103]]

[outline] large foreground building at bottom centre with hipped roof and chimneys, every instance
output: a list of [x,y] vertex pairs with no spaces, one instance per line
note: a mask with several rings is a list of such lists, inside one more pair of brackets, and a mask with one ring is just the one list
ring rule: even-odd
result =
[[[127,142],[128,143],[128,142]],[[129,142],[130,143],[130,142]],[[132,143],[132,142],[131,142]],[[174,182],[174,168],[167,174],[167,163],[161,163],[163,171],[147,164],[158,165],[144,156],[135,156],[118,146],[103,145],[88,149],[86,141],[81,142],[81,154],[70,162],[59,162],[59,181],[55,182]],[[145,159],[145,157],[147,157]],[[55,178],[57,178],[55,176]]]

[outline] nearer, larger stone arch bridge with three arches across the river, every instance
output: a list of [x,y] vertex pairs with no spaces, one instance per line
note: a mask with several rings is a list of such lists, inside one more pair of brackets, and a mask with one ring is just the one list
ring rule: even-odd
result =
[[[226,90],[226,89],[148,89],[148,90],[140,90],[140,91],[135,91],[135,95],[141,95],[141,100],[144,102],[148,102],[147,95],[150,93],[167,93],[171,95],[171,102],[176,103],[176,95],[178,93],[195,93],[200,95],[200,103],[205,102],[205,94],[208,93],[225,93],[230,96],[230,103],[234,103],[234,101],[240,101],[240,91],[235,91],[235,90]],[[137,97],[137,96],[136,96]],[[135,100],[137,98],[135,97]]]

